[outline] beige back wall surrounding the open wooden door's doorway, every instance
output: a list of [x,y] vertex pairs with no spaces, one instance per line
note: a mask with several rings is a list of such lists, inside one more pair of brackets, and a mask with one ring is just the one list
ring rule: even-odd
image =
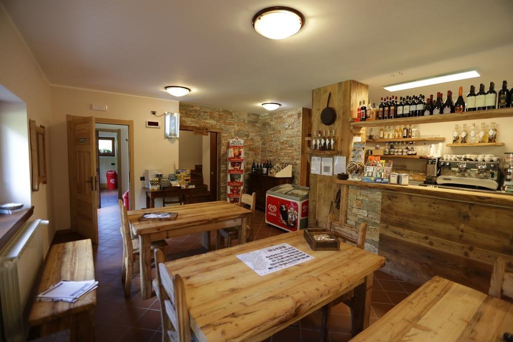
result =
[[[51,87],[52,103],[52,154],[51,172],[54,179],[54,204],[57,229],[69,229],[69,183],[66,115],[95,118],[133,120],[134,122],[134,181],[135,207],[146,206],[144,183],[139,180],[144,169],[157,168],[161,172],[171,173],[173,164],[178,160],[178,141],[164,139],[164,129],[146,128],[146,121],[160,121],[164,117],[155,118],[150,114],[155,110],[157,115],[165,111],[177,112],[179,103],[172,100],[160,100],[138,96],[129,96],[110,92]],[[93,111],[91,104],[107,105],[108,110]]]

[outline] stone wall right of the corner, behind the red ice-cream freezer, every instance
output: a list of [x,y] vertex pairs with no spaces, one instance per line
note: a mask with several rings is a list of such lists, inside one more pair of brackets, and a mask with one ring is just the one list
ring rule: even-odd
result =
[[283,110],[261,117],[260,158],[292,165],[293,183],[299,183],[301,164],[301,121],[303,109]]

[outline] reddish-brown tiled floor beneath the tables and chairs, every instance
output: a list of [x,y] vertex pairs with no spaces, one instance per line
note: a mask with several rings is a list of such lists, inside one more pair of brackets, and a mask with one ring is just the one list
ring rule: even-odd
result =
[[[105,196],[105,201],[103,197]],[[94,246],[96,280],[100,282],[97,290],[97,305],[94,312],[97,341],[160,341],[161,318],[160,303],[156,297],[143,300],[140,293],[140,279],[132,281],[132,291],[125,298],[121,284],[121,259],[123,255],[120,218],[116,205],[117,192],[102,194],[102,208],[98,210],[98,230],[100,243]],[[267,225],[264,213],[258,212],[253,220],[255,239],[282,234],[279,229]],[[212,243],[215,234],[212,234]],[[61,242],[63,237],[55,241]],[[54,241],[54,242],[55,242]],[[200,244],[199,235],[188,235],[168,241],[168,260],[205,253]],[[371,319],[376,321],[393,308],[409,293],[417,289],[410,283],[401,281],[382,272],[376,272],[373,282]],[[330,340],[332,342],[349,340],[350,316],[345,305],[334,308],[329,318]],[[303,318],[298,324],[288,327],[267,341],[321,341],[321,312],[314,312]]]

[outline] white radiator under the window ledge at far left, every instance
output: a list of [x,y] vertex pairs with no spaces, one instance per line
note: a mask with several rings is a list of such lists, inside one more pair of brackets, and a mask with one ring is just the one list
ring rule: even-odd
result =
[[27,338],[24,310],[44,259],[42,224],[48,221],[27,222],[0,253],[3,338],[9,342]]

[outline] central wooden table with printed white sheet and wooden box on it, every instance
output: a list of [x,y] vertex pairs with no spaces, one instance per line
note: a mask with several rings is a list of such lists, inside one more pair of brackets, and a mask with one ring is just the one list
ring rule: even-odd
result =
[[[236,255],[288,243],[314,259],[264,276]],[[261,341],[354,289],[352,328],[368,326],[376,254],[341,243],[340,251],[312,251],[303,232],[258,240],[166,263],[180,274],[191,329],[200,341]]]

